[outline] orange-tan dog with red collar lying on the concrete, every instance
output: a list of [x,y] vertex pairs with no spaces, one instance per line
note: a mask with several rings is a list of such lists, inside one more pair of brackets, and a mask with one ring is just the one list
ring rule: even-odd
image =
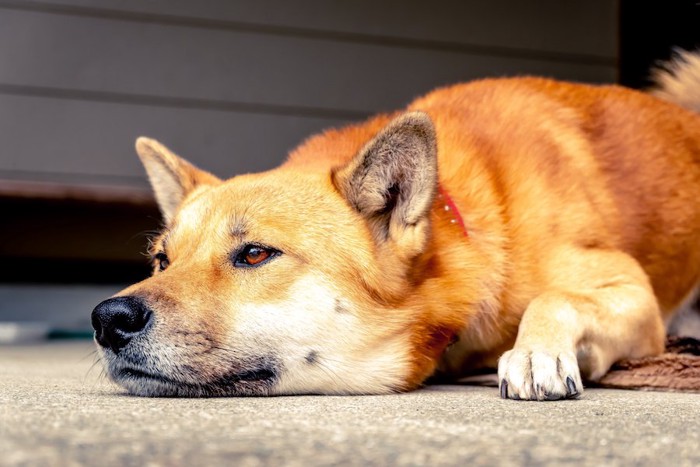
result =
[[497,368],[503,398],[579,397],[698,289],[700,55],[656,82],[444,87],[226,181],[139,138],[164,228],[92,312],[110,378],[386,394]]

